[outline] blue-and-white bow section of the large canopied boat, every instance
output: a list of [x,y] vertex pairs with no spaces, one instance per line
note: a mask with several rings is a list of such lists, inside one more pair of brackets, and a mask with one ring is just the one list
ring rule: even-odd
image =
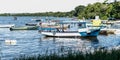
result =
[[97,36],[102,26],[92,26],[86,23],[79,24],[78,32],[81,36]]

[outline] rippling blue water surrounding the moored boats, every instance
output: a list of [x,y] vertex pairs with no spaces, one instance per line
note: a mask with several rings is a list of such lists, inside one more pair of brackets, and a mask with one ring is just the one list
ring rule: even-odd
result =
[[[31,21],[32,18],[38,17],[18,17],[18,20],[13,20],[13,17],[2,16],[0,24],[23,26],[28,22],[36,23]],[[54,19],[68,20],[68,18]],[[120,46],[119,37],[120,35],[99,35],[97,38],[45,38],[37,30],[10,31],[9,28],[0,28],[0,57],[1,60],[12,60],[19,55],[44,54],[46,51],[57,51],[61,48],[82,50],[84,48],[118,47]],[[16,40],[16,44],[6,44],[5,40]]]

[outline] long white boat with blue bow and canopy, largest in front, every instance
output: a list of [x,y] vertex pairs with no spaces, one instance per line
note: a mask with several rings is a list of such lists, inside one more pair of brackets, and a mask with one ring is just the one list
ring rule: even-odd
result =
[[80,21],[64,21],[62,23],[62,27],[64,24],[78,24],[78,31],[65,31],[64,29],[54,29],[51,31],[42,31],[41,34],[48,36],[48,37],[80,37],[80,36],[94,36],[96,37],[101,29],[101,26],[90,26],[87,25],[86,22]]

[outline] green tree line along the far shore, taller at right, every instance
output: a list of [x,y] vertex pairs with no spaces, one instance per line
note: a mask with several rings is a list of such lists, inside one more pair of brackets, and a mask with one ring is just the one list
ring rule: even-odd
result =
[[69,12],[44,12],[44,13],[4,13],[0,16],[54,16],[54,17],[78,17],[82,19],[93,19],[95,16],[100,16],[101,19],[109,17],[120,19],[120,1],[112,3],[88,4],[87,6],[79,5],[74,10]]

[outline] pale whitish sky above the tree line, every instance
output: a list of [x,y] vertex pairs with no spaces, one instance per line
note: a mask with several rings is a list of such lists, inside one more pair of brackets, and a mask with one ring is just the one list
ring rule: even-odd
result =
[[0,0],[0,13],[67,12],[104,0]]

